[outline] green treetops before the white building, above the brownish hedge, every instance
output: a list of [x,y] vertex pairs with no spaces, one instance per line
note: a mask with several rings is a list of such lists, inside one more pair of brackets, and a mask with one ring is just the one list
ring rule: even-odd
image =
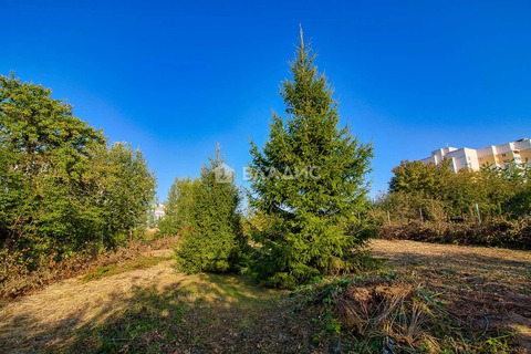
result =
[[486,166],[479,171],[462,169],[457,174],[449,164],[403,162],[393,169],[389,195],[381,200],[381,206],[398,219],[419,219],[419,209],[428,220],[473,218],[476,204],[483,218],[529,215],[530,163],[512,162],[506,167]]

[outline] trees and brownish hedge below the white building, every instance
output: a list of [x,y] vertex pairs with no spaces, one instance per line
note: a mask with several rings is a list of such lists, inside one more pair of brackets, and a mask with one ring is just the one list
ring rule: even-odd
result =
[[531,163],[454,173],[450,162],[403,162],[367,211],[387,239],[531,249]]

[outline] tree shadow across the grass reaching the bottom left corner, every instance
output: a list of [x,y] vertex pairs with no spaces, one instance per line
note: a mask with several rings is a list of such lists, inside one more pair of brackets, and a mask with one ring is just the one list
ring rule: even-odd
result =
[[113,293],[88,322],[80,306],[24,333],[20,321],[31,322],[32,313],[20,313],[0,326],[0,347],[7,353],[310,352],[311,319],[293,315],[281,295],[243,277],[190,275],[163,289],[136,287],[126,298]]

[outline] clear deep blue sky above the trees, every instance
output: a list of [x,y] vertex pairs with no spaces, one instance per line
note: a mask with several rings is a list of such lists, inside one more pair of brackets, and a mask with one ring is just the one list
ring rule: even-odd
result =
[[218,142],[241,171],[283,111],[299,23],[374,143],[372,195],[403,159],[531,137],[530,1],[76,2],[0,0],[0,73],[140,146],[162,200]]

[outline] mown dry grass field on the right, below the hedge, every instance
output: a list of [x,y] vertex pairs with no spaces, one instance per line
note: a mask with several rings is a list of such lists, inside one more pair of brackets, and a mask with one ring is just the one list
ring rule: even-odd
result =
[[531,252],[498,248],[373,240],[394,277],[419,284],[464,325],[487,333],[518,332],[531,353]]

